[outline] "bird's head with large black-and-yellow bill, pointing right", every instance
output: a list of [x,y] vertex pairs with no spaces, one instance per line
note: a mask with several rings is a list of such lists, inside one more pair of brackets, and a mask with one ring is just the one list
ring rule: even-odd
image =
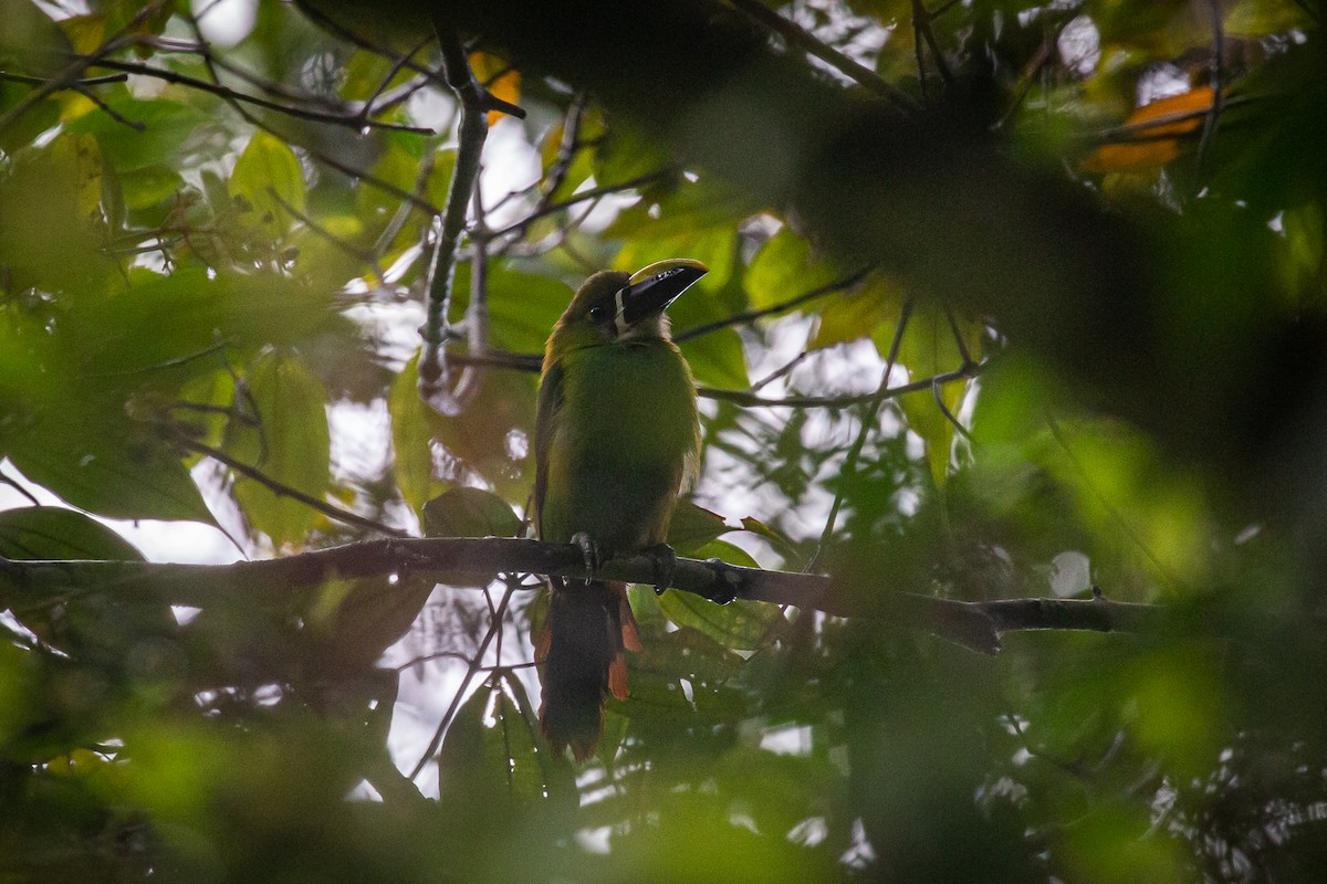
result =
[[699,261],[669,258],[626,274],[605,270],[585,280],[557,321],[561,347],[593,347],[620,341],[669,337],[664,310],[709,273]]

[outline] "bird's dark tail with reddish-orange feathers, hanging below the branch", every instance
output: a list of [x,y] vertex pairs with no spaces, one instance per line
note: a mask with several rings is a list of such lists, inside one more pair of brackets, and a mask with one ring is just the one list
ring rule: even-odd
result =
[[624,648],[641,649],[625,583],[553,580],[535,660],[544,683],[539,724],[559,755],[571,746],[576,761],[589,758],[608,694],[626,700]]

